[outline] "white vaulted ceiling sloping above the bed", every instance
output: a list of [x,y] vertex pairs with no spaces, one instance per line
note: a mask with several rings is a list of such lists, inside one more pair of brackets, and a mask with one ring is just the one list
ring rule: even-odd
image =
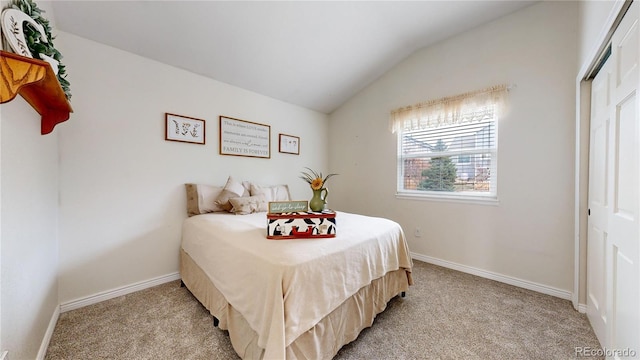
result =
[[[53,1],[59,30],[322,113],[534,1]],[[541,19],[543,21],[543,19]]]

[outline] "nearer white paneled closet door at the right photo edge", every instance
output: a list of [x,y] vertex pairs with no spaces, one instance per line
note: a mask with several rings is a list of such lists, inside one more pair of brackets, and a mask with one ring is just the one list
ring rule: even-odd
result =
[[[612,39],[610,134],[611,315],[609,346],[640,355],[640,5],[633,2]],[[614,358],[617,356],[614,355]]]

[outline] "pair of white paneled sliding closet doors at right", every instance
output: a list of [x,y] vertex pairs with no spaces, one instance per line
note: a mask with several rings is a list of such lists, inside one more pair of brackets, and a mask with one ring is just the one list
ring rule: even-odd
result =
[[587,315],[614,359],[640,357],[639,13],[634,1],[592,86]]

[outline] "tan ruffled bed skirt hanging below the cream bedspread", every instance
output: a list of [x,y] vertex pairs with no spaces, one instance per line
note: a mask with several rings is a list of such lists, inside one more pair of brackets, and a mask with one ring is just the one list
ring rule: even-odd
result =
[[[218,320],[218,327],[229,331],[234,350],[243,359],[262,359],[264,349],[258,346],[258,335],[247,321],[227,303],[204,271],[191,256],[180,249],[182,281],[200,303]],[[404,269],[361,288],[342,305],[325,316],[313,328],[300,335],[286,348],[287,359],[331,359],[340,348],[358,337],[360,331],[373,324],[389,300],[409,288]]]

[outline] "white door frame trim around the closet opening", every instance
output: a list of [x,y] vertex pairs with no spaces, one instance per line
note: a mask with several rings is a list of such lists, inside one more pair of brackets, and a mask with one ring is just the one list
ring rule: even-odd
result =
[[[589,123],[591,113],[591,80],[589,78],[600,63],[620,20],[631,5],[629,0],[615,0],[600,34],[593,39],[593,47],[587,60],[576,76],[576,119],[575,119],[575,171],[574,171],[574,276],[573,307],[581,313],[587,312],[586,302],[586,249],[587,210],[589,191]],[[580,303],[580,300],[583,302]]]

